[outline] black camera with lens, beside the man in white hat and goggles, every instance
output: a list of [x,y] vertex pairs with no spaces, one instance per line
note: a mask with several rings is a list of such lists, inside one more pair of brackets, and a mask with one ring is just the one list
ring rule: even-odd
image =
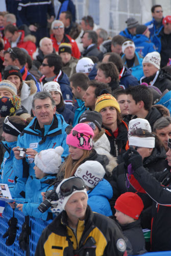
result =
[[48,208],[51,207],[52,201],[57,201],[59,199],[58,195],[56,194],[55,190],[48,190],[46,194],[44,195],[45,199],[44,201],[39,204],[38,209],[39,211],[45,212]]

